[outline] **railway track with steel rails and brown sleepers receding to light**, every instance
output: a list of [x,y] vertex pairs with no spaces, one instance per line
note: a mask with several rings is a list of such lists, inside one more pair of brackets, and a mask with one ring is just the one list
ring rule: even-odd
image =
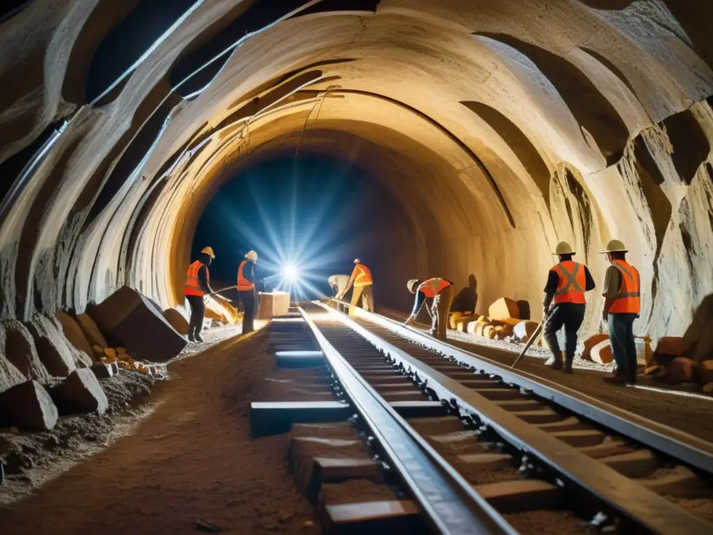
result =
[[[337,397],[431,531],[713,533],[708,472],[463,366],[447,346],[324,305],[299,313]],[[414,402],[440,410],[399,414]]]

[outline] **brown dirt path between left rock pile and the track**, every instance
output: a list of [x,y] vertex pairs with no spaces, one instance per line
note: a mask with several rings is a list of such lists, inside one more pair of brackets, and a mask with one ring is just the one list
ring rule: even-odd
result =
[[[316,533],[287,469],[288,437],[250,439],[247,408],[272,366],[264,337],[174,362],[172,380],[155,385],[143,414],[127,417],[111,444],[0,506],[0,531],[190,534],[201,520],[238,534]],[[190,352],[216,342],[204,338]]]

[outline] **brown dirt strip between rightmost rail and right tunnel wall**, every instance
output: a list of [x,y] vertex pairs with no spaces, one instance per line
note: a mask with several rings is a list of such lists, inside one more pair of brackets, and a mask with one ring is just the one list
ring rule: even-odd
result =
[[[401,312],[394,310],[379,310],[379,312],[396,320],[403,320],[406,317]],[[421,325],[421,327],[425,326]],[[505,365],[511,365],[524,347],[519,343],[486,340],[483,337],[453,330],[448,330],[448,342],[463,350]],[[610,403],[612,406],[713,442],[713,426],[710,424],[713,397],[689,395],[689,392],[657,384],[648,377],[640,377],[637,387],[612,386],[602,382],[602,377],[605,377],[610,367],[583,360],[575,360],[574,374],[565,375],[562,372],[550,370],[544,365],[545,359],[549,356],[550,353],[543,349],[528,350],[527,355],[520,361],[518,369],[564,384],[578,392]]]

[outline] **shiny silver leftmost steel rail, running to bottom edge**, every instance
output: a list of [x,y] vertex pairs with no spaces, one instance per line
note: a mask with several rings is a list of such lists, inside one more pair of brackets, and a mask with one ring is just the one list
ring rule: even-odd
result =
[[517,531],[501,514],[473,491],[471,485],[349,365],[320,332],[309,312],[302,307],[298,310],[352,407],[371,429],[431,526],[438,533],[448,535],[516,535]]

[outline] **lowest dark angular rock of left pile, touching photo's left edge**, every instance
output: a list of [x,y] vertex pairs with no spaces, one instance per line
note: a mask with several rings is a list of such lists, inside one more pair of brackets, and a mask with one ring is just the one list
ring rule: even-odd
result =
[[0,394],[0,427],[48,431],[56,425],[57,417],[57,407],[39,382],[16,384]]

